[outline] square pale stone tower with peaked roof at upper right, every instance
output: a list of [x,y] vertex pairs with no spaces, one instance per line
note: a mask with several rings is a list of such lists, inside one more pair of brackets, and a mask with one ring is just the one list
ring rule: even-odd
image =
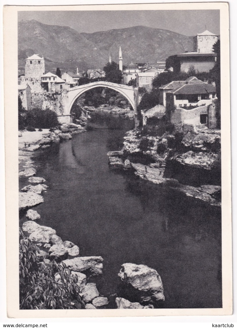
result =
[[213,45],[218,40],[218,36],[209,32],[204,31],[197,34],[193,38],[193,50],[200,53],[213,53]]

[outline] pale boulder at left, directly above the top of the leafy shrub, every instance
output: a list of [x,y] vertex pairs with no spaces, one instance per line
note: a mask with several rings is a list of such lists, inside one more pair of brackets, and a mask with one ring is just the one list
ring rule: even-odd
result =
[[50,243],[52,235],[56,231],[50,227],[41,226],[34,221],[24,222],[22,225],[23,232],[27,232],[29,239],[35,243]]

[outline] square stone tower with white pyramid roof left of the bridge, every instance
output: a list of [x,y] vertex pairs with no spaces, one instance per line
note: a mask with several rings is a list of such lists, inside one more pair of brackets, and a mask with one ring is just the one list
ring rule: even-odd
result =
[[44,57],[34,54],[25,60],[25,77],[36,78],[41,80],[41,76],[44,75]]

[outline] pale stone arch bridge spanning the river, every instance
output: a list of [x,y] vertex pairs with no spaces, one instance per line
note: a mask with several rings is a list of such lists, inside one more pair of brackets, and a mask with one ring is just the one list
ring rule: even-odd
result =
[[121,93],[131,104],[135,113],[135,124],[138,124],[137,120],[137,106],[139,104],[138,88],[129,87],[123,84],[111,83],[106,81],[92,82],[80,86],[76,86],[67,91],[66,97],[62,100],[63,114],[58,116],[61,123],[70,123],[72,120],[71,110],[75,100],[84,92],[98,88],[109,88]]

